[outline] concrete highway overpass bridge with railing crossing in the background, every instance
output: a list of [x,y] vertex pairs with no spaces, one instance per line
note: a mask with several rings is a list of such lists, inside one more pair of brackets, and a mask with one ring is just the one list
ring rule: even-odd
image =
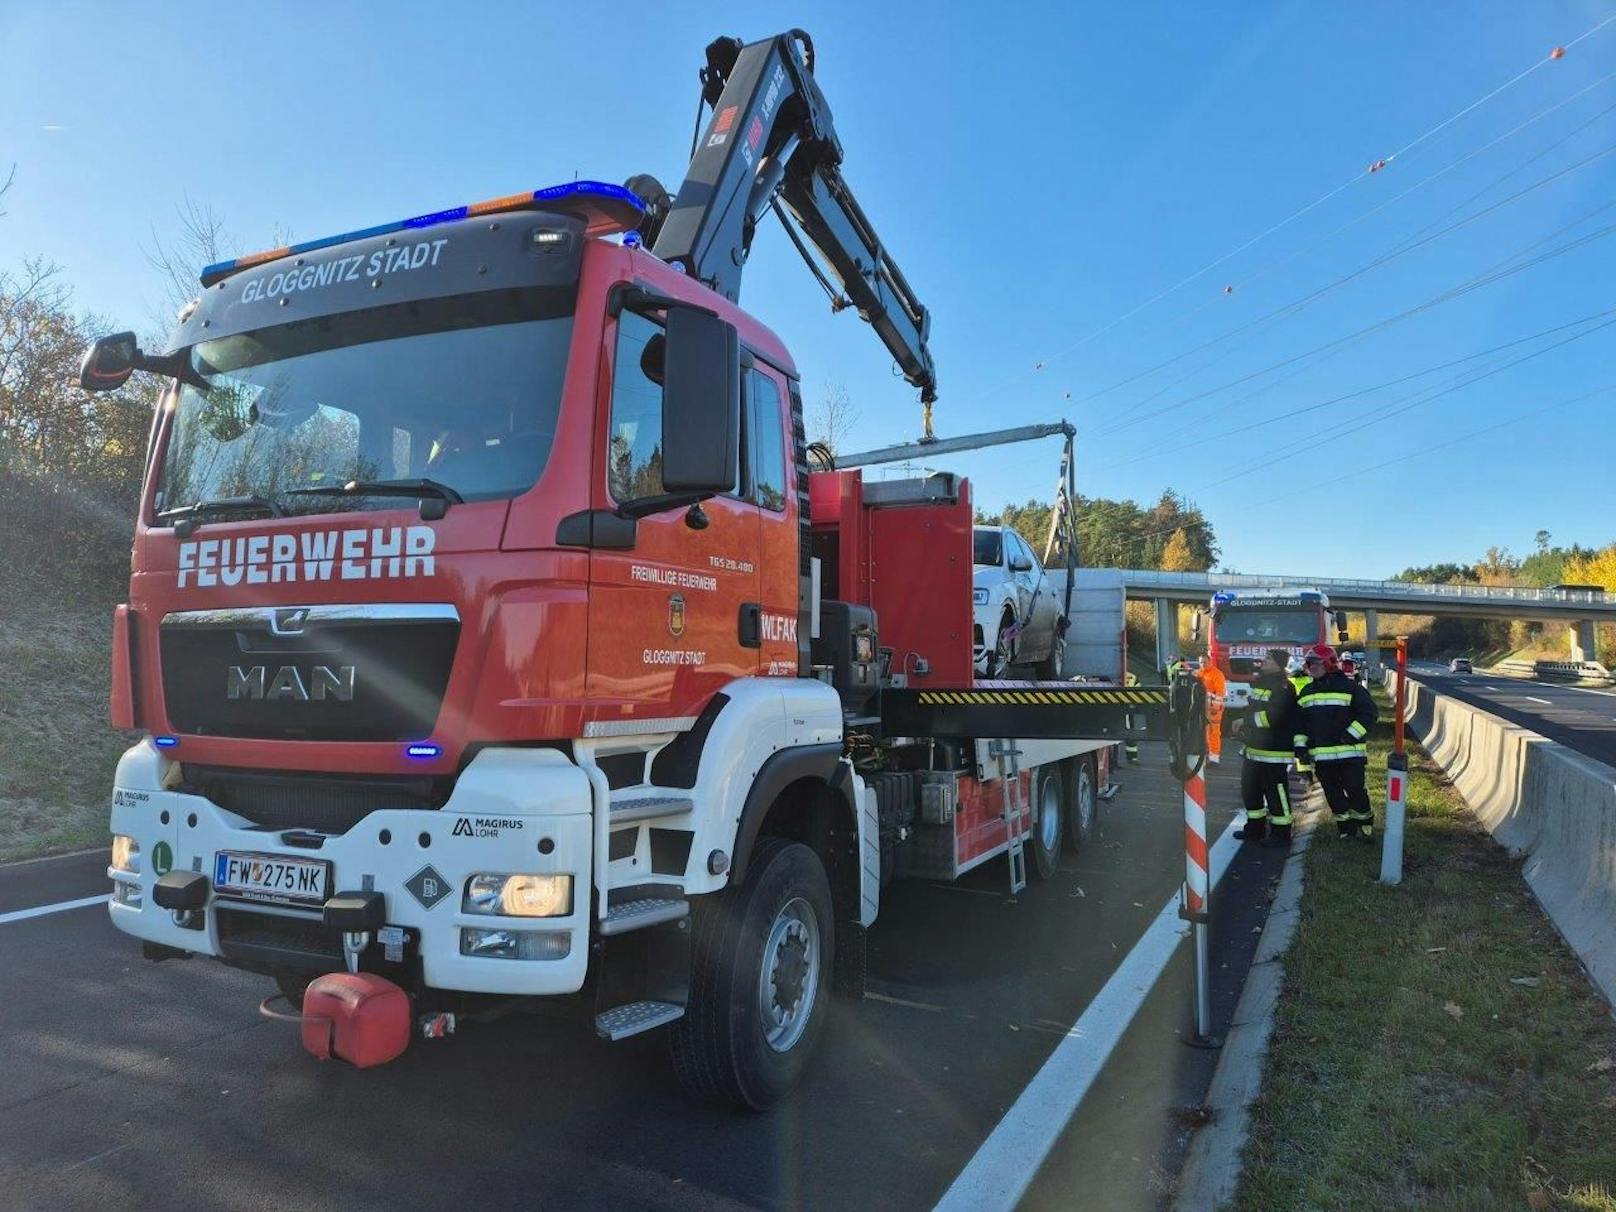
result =
[[[1063,572],[1052,574],[1063,585]],[[1616,622],[1616,595],[1603,590],[1540,590],[1521,585],[1424,585],[1406,580],[1256,575],[1236,572],[1160,572],[1157,569],[1078,569],[1084,588],[1120,588],[1125,598],[1155,603],[1157,667],[1178,651],[1178,606],[1206,606],[1220,590],[1251,591],[1317,588],[1330,606],[1364,614],[1369,650],[1380,630],[1380,611],[1563,622],[1571,630],[1574,661],[1593,659],[1593,624]]]

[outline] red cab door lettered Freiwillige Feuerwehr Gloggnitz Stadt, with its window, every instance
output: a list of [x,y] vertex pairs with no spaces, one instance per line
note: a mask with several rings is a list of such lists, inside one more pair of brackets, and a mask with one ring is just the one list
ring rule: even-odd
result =
[[[624,310],[608,375],[596,507],[663,491],[663,326]],[[747,431],[742,423],[742,448]],[[713,692],[758,672],[743,616],[758,612],[758,506],[737,491],[638,519],[627,549],[590,553],[587,693],[627,716],[696,714]]]

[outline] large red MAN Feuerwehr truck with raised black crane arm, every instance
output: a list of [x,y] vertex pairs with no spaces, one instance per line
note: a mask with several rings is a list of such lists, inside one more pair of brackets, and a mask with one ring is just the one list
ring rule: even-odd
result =
[[87,388],[170,380],[112,654],[147,735],[110,913],[150,958],[294,1004],[375,974],[433,1031],[583,994],[766,1107],[887,881],[1047,874],[1102,751],[1164,734],[1160,688],[973,684],[966,482],[810,477],[795,364],[735,305],[763,212],[928,415],[929,318],[808,37],[706,60],[674,197],[580,181],[242,257],[166,352],[87,352]]

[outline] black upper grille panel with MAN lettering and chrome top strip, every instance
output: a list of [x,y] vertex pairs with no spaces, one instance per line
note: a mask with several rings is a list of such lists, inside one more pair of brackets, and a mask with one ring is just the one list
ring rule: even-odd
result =
[[265,740],[420,740],[454,663],[452,606],[184,611],[162,624],[176,732]]

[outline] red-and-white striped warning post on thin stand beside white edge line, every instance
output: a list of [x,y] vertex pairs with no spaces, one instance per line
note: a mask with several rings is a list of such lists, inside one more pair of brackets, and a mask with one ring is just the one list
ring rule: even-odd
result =
[[1193,1047],[1222,1047],[1212,1034],[1212,863],[1207,852],[1207,693],[1191,674],[1180,674],[1168,692],[1170,760],[1185,785],[1185,884],[1178,916],[1189,923],[1194,963],[1191,986]]

